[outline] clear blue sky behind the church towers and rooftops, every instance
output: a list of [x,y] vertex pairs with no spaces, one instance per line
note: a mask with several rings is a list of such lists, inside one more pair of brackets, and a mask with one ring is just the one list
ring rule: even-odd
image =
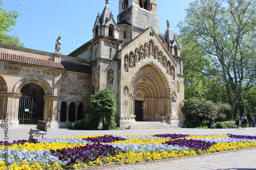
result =
[[[160,33],[166,29],[166,20],[175,33],[193,0],[158,0]],[[93,25],[97,13],[103,11],[105,0],[4,0],[3,8],[17,10],[20,16],[16,26],[8,33],[16,34],[26,48],[55,52],[55,41],[61,36],[61,53],[68,55],[93,38]],[[119,0],[109,0],[117,21]]]

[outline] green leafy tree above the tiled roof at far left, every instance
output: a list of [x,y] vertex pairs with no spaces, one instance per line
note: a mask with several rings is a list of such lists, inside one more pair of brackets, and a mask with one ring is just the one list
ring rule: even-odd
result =
[[11,36],[6,32],[13,30],[11,27],[16,25],[16,19],[19,16],[16,10],[7,10],[2,8],[3,1],[0,0],[0,43],[24,46],[23,43],[19,42],[18,36]]

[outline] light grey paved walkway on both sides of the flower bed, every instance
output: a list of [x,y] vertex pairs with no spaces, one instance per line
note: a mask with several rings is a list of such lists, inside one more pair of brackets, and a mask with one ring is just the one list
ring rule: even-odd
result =
[[[8,141],[28,139],[29,130],[8,129]],[[256,128],[246,129],[138,129],[138,130],[114,130],[114,131],[82,131],[69,129],[48,129],[47,137],[68,137],[78,135],[104,135],[104,134],[256,134]],[[4,140],[4,129],[0,129],[0,140]],[[94,169],[256,169],[256,148],[237,151],[227,151],[207,155],[183,157],[169,160],[135,163]]]

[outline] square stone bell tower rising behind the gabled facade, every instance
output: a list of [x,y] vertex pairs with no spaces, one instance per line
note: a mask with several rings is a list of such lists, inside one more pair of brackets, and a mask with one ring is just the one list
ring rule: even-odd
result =
[[159,34],[157,0],[119,0],[117,24],[122,30],[119,38],[124,41],[135,38],[149,27]]

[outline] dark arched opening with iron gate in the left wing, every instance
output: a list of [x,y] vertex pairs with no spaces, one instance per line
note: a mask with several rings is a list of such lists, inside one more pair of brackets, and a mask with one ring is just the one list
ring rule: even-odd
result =
[[44,89],[28,83],[20,90],[18,120],[21,125],[36,125],[44,117]]

